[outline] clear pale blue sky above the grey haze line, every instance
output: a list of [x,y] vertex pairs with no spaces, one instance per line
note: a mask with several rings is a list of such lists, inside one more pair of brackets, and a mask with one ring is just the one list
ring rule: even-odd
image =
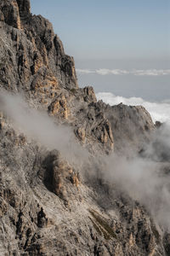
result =
[[76,58],[168,55],[169,0],[31,0]]

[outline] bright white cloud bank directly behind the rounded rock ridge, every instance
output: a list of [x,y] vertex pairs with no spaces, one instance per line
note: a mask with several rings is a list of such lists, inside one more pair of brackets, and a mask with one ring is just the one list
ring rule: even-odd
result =
[[96,96],[98,100],[103,100],[103,102],[110,105],[117,105],[120,102],[132,106],[142,105],[148,110],[154,122],[170,122],[170,102],[146,102],[142,98],[125,98],[115,96],[110,92],[99,92]]

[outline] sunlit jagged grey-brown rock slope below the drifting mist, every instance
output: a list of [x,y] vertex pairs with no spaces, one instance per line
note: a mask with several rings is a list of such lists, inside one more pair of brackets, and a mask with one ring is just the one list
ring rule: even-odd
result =
[[[98,180],[88,187],[58,151],[1,121],[2,255],[164,255],[156,224],[137,202]],[[168,251],[168,236],[163,243]]]

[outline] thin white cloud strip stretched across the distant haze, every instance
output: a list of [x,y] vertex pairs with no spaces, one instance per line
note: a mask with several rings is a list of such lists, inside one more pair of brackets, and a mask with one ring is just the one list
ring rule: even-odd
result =
[[77,73],[80,74],[99,74],[99,75],[127,75],[131,74],[134,76],[164,76],[170,75],[170,69],[108,69],[108,68],[99,68],[99,69],[79,69],[77,68]]

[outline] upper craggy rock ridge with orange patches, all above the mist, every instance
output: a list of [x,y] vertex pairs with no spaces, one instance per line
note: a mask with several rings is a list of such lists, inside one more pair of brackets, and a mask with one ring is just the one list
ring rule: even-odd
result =
[[[77,137],[82,143],[91,144],[89,148],[92,151],[95,150],[95,143],[99,148],[105,148],[107,153],[111,152],[114,144],[120,149],[127,142],[138,143],[139,139],[134,139],[132,126],[135,127],[136,137],[140,132],[147,137],[151,126],[145,132],[144,125],[137,125],[139,119],[148,119],[143,114],[144,109],[138,114],[137,108],[126,108],[122,118],[120,107],[109,110],[96,103],[93,88],[78,88],[73,58],[65,55],[63,45],[54,35],[49,21],[41,15],[31,15],[29,1],[3,1],[0,9],[7,17],[0,27],[1,87],[24,90],[38,108],[44,108],[58,119],[71,123],[75,126]],[[15,20],[20,20],[21,29],[15,26],[14,20],[8,23],[12,17],[11,9],[16,9]],[[129,114],[132,125],[127,125]]]

